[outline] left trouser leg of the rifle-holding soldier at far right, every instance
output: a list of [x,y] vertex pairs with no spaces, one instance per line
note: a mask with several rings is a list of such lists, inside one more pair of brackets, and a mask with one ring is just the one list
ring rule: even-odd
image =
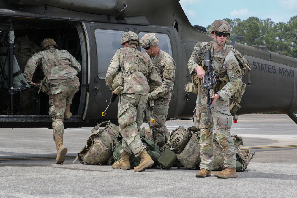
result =
[[[196,122],[195,126],[198,128],[198,121],[200,124],[200,158],[201,158],[201,163],[200,163],[200,169],[204,168],[206,170],[213,170],[212,163],[214,161],[214,148],[212,144],[212,127],[207,127],[209,126],[210,123],[208,123],[208,108],[207,104],[205,101],[205,93],[201,91],[201,115],[199,111],[199,95],[197,96],[197,101],[196,101],[196,116],[194,119],[194,122]],[[200,116],[200,117],[199,117]]]

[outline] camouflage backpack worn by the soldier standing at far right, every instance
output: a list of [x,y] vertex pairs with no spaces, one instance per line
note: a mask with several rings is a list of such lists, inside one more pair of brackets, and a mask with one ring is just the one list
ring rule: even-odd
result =
[[[211,49],[211,47],[213,46],[213,42],[208,42],[204,47],[202,47],[202,45],[203,45],[203,42],[198,42],[195,46],[195,49],[200,49],[200,52],[205,53],[206,50]],[[239,103],[240,103],[241,98],[245,92],[245,89],[247,88],[247,86],[250,86],[250,83],[251,83],[251,81],[250,81],[251,67],[248,64],[247,59],[244,57],[244,54],[239,52],[238,50],[234,49],[233,46],[231,46],[231,45],[227,45],[227,48],[226,48],[223,56],[226,57],[230,51],[234,54],[236,60],[238,61],[239,67],[241,69],[241,77],[243,77],[243,75],[246,73],[246,69],[248,70],[247,85],[242,82],[242,78],[241,78],[241,82],[240,82],[240,85],[239,85],[237,91],[233,94],[233,96],[230,97],[230,112],[233,115],[236,115],[236,111],[241,108]],[[214,88],[215,91],[219,91],[225,84],[227,84],[229,82],[228,76],[222,72],[224,62],[225,62],[225,59],[220,60],[221,64],[220,64],[220,68],[219,68],[219,73],[216,75],[216,78],[219,79],[219,82],[221,82],[221,83],[220,83],[220,86],[216,86]],[[200,53],[200,62],[198,64],[201,65],[202,67],[204,66],[203,56],[201,53]],[[194,74],[192,76],[192,83],[186,83],[185,91],[198,94],[198,83],[200,83],[199,78],[198,78],[197,74]]]

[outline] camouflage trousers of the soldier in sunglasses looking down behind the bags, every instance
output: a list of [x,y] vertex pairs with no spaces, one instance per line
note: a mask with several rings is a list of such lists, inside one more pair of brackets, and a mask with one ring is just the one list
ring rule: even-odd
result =
[[163,146],[168,139],[170,139],[170,132],[165,126],[168,109],[169,109],[169,98],[157,98],[154,103],[155,107],[152,110],[155,123],[151,122],[151,112],[149,109],[149,102],[146,104],[146,120],[149,123],[149,128],[153,131],[155,140],[157,140],[159,146]]

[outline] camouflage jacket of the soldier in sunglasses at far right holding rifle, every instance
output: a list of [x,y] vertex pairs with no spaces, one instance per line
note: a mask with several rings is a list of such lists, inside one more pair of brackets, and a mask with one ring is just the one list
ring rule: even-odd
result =
[[[198,63],[200,61],[200,49],[202,49],[207,44],[207,42],[203,43],[202,47],[200,48],[198,43],[196,44],[194,51],[192,53],[192,56],[188,61],[188,69],[189,69],[190,75],[194,75],[193,71],[195,67],[198,66]],[[218,53],[214,53],[214,48],[211,47],[211,65],[210,65],[211,71],[219,70],[219,66],[220,66],[219,60],[224,58],[223,54],[226,48],[227,48],[227,45],[225,44],[221,51],[219,51]],[[218,91],[218,94],[224,101],[229,100],[229,98],[235,93],[235,91],[239,87],[239,84],[241,82],[241,73],[240,74],[236,73],[238,69],[240,71],[238,62],[234,54],[230,51],[225,57],[225,61],[223,64],[223,71],[226,72],[226,74],[228,75],[229,82],[220,91]]]

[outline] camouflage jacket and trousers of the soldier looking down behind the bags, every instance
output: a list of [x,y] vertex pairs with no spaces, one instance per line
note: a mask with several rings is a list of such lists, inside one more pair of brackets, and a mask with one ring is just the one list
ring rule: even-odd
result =
[[170,132],[166,128],[165,122],[172,95],[171,89],[175,79],[175,61],[168,53],[160,49],[156,56],[150,57],[160,77],[162,77],[162,85],[149,94],[149,98],[154,99],[155,103],[155,107],[152,110],[155,123],[151,123],[149,102],[146,104],[146,120],[154,133],[159,147],[162,147],[170,138]]

